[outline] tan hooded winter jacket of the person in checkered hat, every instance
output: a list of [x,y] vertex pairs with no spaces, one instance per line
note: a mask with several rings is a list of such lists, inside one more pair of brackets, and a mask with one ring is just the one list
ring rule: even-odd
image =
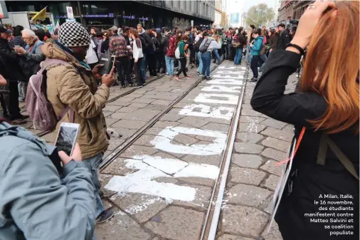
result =
[[[109,88],[106,85],[97,88],[92,71],[55,43],[45,43],[41,50],[47,58],[57,58],[72,64],[48,66],[47,95],[56,115],[60,115],[67,105],[74,111],[74,122],[80,124],[78,142],[83,160],[94,157],[99,152],[105,152],[109,140],[102,108],[109,98]],[[60,122],[70,122],[70,112]],[[60,122],[56,131],[60,127]]]

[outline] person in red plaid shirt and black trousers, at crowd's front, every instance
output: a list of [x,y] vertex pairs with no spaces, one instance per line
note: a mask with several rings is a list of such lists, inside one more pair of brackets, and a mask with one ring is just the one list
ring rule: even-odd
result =
[[119,80],[121,87],[126,88],[124,75],[126,77],[127,84],[132,87],[132,80],[129,72],[129,50],[127,49],[127,42],[125,35],[117,35],[117,27],[112,26],[112,36],[109,40],[109,49],[112,56],[116,58],[116,70],[117,79]]

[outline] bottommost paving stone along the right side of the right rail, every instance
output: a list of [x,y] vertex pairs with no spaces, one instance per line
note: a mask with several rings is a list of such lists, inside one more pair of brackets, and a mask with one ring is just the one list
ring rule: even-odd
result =
[[222,231],[258,237],[268,221],[268,214],[253,207],[228,206],[223,209]]

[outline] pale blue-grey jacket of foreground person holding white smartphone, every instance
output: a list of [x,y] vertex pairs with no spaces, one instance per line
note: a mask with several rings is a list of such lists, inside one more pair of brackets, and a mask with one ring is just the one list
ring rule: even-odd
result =
[[49,157],[54,150],[23,127],[0,122],[0,239],[95,239],[91,174],[72,160],[61,179]]

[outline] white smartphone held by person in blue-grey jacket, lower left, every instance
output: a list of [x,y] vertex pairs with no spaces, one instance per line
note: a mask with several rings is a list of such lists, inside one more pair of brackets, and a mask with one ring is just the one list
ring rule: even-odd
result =
[[80,125],[78,123],[62,122],[60,124],[58,137],[56,137],[55,142],[59,152],[64,151],[68,156],[73,154],[79,129]]

